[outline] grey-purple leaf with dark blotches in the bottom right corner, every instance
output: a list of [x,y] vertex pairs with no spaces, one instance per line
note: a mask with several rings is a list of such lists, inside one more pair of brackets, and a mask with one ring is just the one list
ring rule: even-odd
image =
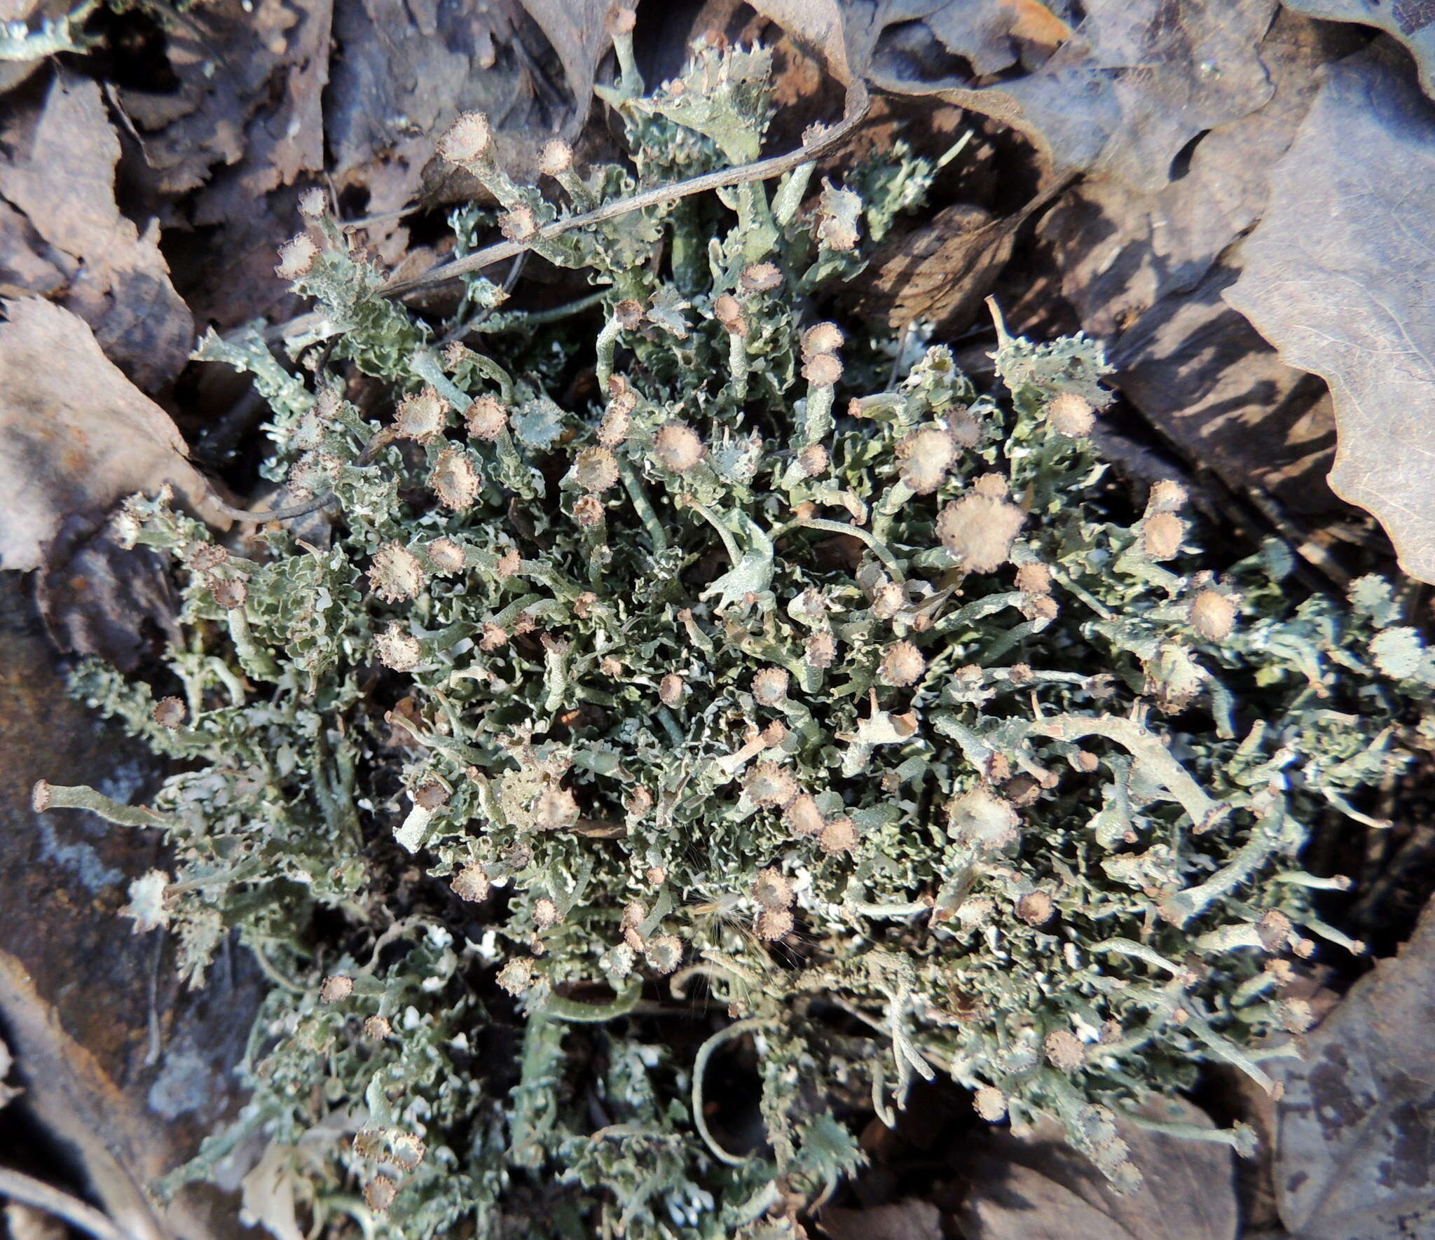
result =
[[1435,1234],[1435,904],[1309,1035],[1273,1061],[1276,1193],[1297,1240]]

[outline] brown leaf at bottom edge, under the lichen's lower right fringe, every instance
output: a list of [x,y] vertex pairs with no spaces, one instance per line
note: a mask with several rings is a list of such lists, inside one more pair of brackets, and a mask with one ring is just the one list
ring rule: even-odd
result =
[[[1213,1127],[1190,1102],[1152,1104],[1162,1118]],[[1118,1194],[1043,1121],[1023,1138],[993,1132],[971,1165],[961,1211],[970,1240],[1234,1240],[1234,1155],[1225,1145],[1119,1125],[1144,1184]]]

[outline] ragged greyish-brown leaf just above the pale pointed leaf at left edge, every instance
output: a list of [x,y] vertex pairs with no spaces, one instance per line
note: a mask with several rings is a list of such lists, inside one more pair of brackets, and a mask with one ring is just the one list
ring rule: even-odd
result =
[[[144,234],[115,205],[119,139],[99,86],[57,75],[44,106],[9,133],[0,197],[44,243],[47,271],[27,291],[59,293],[95,330],[105,353],[142,388],[171,380],[189,356],[194,320],[169,283],[156,224]],[[11,221],[13,222],[13,221]]]

